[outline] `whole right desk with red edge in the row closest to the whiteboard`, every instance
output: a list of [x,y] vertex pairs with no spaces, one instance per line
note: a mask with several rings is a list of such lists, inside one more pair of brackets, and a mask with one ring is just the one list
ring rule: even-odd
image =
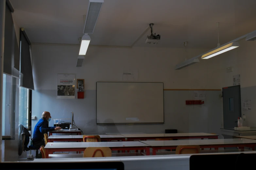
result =
[[208,138],[208,139],[218,139],[218,135],[207,134],[207,133],[179,133],[179,134],[122,134],[127,137],[127,141],[133,140],[149,140],[149,139],[195,139],[195,138]]

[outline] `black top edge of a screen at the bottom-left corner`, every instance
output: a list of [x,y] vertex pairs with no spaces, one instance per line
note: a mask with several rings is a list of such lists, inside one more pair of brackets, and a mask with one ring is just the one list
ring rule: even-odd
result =
[[1,163],[1,170],[124,170],[122,162]]

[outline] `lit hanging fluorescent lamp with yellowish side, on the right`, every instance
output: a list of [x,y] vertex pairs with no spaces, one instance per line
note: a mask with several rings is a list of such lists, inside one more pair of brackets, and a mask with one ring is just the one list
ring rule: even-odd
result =
[[212,50],[204,55],[202,55],[201,59],[208,59],[208,58],[211,58],[211,57],[214,57],[215,55],[219,55],[223,52],[226,52],[226,51],[229,51],[229,50],[232,50],[234,48],[237,48],[239,47],[239,43],[238,42],[231,42],[225,46],[222,46],[222,47],[219,47],[215,50]]

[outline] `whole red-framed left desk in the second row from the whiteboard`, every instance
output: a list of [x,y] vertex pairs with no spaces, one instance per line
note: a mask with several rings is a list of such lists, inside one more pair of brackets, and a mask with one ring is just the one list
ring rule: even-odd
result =
[[149,155],[149,145],[139,142],[48,142],[45,149],[45,158],[53,152],[84,151],[88,147],[109,147],[111,150],[146,150]]

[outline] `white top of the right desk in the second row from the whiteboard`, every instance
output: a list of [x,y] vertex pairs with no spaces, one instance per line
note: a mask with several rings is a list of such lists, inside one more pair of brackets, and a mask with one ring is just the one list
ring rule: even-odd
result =
[[211,140],[154,140],[140,141],[150,146],[178,146],[178,145],[224,145],[224,144],[250,144],[256,140],[235,138],[235,139],[211,139]]

